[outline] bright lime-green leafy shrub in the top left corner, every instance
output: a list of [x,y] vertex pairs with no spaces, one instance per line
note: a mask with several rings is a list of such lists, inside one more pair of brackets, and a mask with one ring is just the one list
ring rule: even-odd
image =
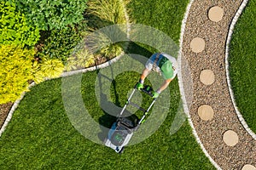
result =
[[15,3],[0,2],[0,43],[33,46],[39,37],[38,27],[27,22]]

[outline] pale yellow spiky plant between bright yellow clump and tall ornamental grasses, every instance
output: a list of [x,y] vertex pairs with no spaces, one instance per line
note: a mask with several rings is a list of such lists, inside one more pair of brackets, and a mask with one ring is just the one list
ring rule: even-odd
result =
[[89,67],[95,64],[95,58],[93,54],[90,54],[89,50],[83,48],[78,53],[67,59],[66,70],[77,70]]

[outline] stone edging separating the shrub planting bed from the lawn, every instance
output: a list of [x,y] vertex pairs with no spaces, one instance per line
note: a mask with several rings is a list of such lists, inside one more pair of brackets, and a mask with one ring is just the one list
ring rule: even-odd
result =
[[[123,2],[123,0],[120,0],[120,2],[124,5],[125,7],[125,3]],[[130,26],[130,20],[129,20],[129,15],[127,13],[127,10],[125,8],[125,20],[126,20],[126,26],[127,26],[127,37],[129,39],[129,32],[131,31],[131,26]],[[102,63],[101,65],[95,65],[95,66],[92,66],[92,67],[89,67],[89,68],[85,68],[85,69],[81,69],[81,70],[77,70],[77,71],[67,71],[67,72],[64,72],[61,74],[60,77],[68,77],[68,76],[72,76],[72,75],[75,75],[75,74],[79,74],[79,73],[84,73],[84,72],[87,72],[87,71],[96,71],[98,69],[102,69],[102,68],[105,68],[109,65],[112,65],[113,63],[115,63],[116,61],[118,61],[122,55],[124,55],[125,53],[122,52],[121,54],[119,54],[117,57],[113,58],[113,59],[110,59],[108,60],[107,62],[105,63]],[[60,78],[59,77],[59,78]],[[50,79],[46,79],[47,80],[50,80]],[[32,88],[33,86],[35,86],[36,83],[35,82],[32,82],[28,88]],[[11,110],[9,111],[8,113],[8,116],[6,117],[5,121],[3,122],[3,126],[1,127],[0,129],[0,137],[2,136],[4,130],[6,129],[9,121],[11,120],[15,110],[17,109],[18,105],[20,104],[20,101],[21,99],[23,99],[23,97],[25,96],[26,92],[23,92],[21,95],[20,95],[20,99],[17,99],[14,103],[14,105],[11,107]]]

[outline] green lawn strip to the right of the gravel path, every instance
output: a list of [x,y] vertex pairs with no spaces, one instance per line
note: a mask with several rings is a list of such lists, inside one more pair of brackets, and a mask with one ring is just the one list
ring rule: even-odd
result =
[[230,79],[236,104],[248,126],[256,133],[256,1],[236,23],[230,42]]

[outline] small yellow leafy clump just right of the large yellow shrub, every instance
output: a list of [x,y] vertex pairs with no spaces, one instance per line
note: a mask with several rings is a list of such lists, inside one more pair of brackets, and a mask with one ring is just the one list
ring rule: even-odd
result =
[[64,65],[58,59],[42,59],[41,61],[34,61],[34,82],[44,82],[46,78],[60,77],[64,70]]

